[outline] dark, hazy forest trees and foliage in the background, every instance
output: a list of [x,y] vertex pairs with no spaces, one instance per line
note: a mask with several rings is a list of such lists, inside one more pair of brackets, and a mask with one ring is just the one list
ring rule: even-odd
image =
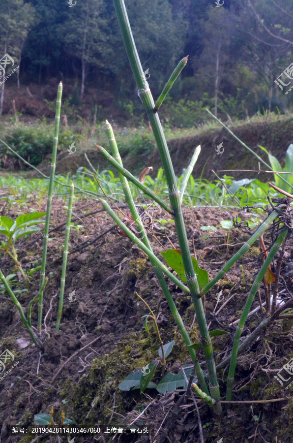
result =
[[[212,0],[125,3],[154,95],[180,57],[189,54],[171,92],[174,99],[181,97],[178,115],[167,113],[172,124],[201,123],[202,104],[216,115],[237,118],[291,108],[293,94],[285,95],[274,83],[292,63],[290,0],[225,0],[222,7]],[[69,7],[66,0],[2,0],[0,19],[0,55],[8,53],[20,65],[10,85],[61,79],[72,85],[70,105],[80,106],[90,90],[93,110],[115,103],[118,94],[123,105],[116,107],[137,111],[139,100],[126,99],[135,82],[112,1],[77,0]],[[180,108],[190,111],[192,122],[182,122]]]

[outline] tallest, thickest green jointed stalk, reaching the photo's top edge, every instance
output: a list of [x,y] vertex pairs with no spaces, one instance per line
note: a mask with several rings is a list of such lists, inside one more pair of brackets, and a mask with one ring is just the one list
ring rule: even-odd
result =
[[200,288],[193,269],[191,253],[189,251],[189,245],[188,245],[188,240],[182,215],[182,209],[181,209],[180,194],[177,188],[176,176],[174,173],[173,164],[171,161],[170,153],[168,150],[168,146],[166,143],[166,139],[164,136],[164,132],[161,126],[158,113],[154,112],[154,107],[155,107],[154,100],[149,90],[148,84],[146,82],[142,65],[140,63],[140,59],[136,50],[124,1],[114,0],[114,5],[116,9],[119,26],[122,32],[126,52],[132,67],[136,83],[139,88],[138,95],[141,98],[143,104],[145,105],[147,116],[150,121],[150,125],[152,127],[156,144],[160,153],[163,169],[165,171],[166,180],[169,188],[170,203],[174,211],[174,219],[178,235],[178,243],[182,254],[183,266],[185,269],[185,274],[186,274],[188,287],[190,289],[190,294],[192,296],[197,316],[197,322],[201,334],[202,346],[205,353],[207,370],[209,373],[210,394],[211,397],[216,400],[216,403],[213,406],[213,411],[216,414],[220,414],[222,412],[222,407],[220,402],[220,390],[216,375],[213,348],[207,329],[202,300],[199,298]]

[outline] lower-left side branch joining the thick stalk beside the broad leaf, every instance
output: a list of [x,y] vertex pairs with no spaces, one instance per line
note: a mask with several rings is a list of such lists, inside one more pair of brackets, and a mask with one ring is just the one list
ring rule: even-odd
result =
[[[142,251],[144,251],[144,253],[146,253],[146,255],[148,256],[148,258],[152,259],[155,263],[155,266],[157,266],[159,269],[162,269],[162,271],[164,272],[165,275],[167,275],[167,277],[169,277],[170,280],[172,280],[183,292],[185,292],[186,294],[189,294],[189,289],[188,287],[186,287],[185,285],[183,285],[182,282],[180,282],[170,271],[169,269],[154,255],[154,253],[152,251],[149,251],[149,249],[144,245],[144,243],[139,240],[132,232],[131,230],[126,226],[126,224],[124,224],[119,217],[117,217],[117,215],[115,214],[115,212],[113,211],[113,209],[110,208],[110,206],[108,205],[108,203],[106,202],[106,200],[103,200],[102,198],[100,198],[100,201],[104,207],[104,209],[106,209],[106,211],[108,212],[108,214],[112,217],[112,219],[114,221],[116,221],[117,225],[119,226],[120,229],[122,229],[123,232],[125,232],[125,234],[136,244],[138,245]],[[156,269],[156,268],[154,268]]]

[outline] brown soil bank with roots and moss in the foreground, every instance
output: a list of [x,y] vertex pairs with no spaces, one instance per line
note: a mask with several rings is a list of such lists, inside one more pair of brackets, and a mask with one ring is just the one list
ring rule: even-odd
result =
[[[33,201],[29,201],[27,205],[27,208],[22,208],[22,212],[29,212],[29,208],[45,211],[45,203],[41,208],[37,208]],[[56,198],[53,201],[52,227],[58,226],[66,219],[63,206],[61,199]],[[74,212],[81,216],[85,212],[95,210],[95,207],[94,202],[78,201]],[[18,214],[10,210],[4,215],[15,217]],[[207,270],[210,279],[249,238],[249,234],[244,233],[242,229],[232,228],[228,240],[228,231],[219,227],[221,220],[231,220],[234,216],[240,216],[242,221],[249,217],[244,211],[237,214],[208,208],[184,209],[191,250],[193,251],[194,236],[199,264]],[[166,220],[169,220],[169,217],[166,216]],[[105,231],[113,226],[113,222],[103,211],[77,220],[75,224],[82,224],[83,227],[79,232],[76,229],[71,230],[70,252],[85,246],[85,242],[104,235],[92,245],[68,255],[63,316],[59,332],[55,331],[55,322],[59,303],[62,263],[59,257],[64,239],[64,226],[49,235],[51,240],[46,269],[49,282],[44,295],[45,319],[43,316],[41,337],[43,352],[32,345],[19,312],[8,295],[4,290],[0,294],[0,352],[9,349],[19,362],[17,367],[11,369],[4,380],[0,381],[0,442],[57,442],[55,437],[49,435],[39,439],[31,435],[9,436],[11,428],[15,425],[30,429],[34,425],[34,414],[50,413],[52,406],[56,422],[60,421],[61,411],[64,411],[65,417],[74,419],[79,426],[100,426],[102,431],[106,431],[106,427],[117,427],[119,424],[130,425],[135,414],[145,410],[140,417],[139,426],[146,427],[148,435],[84,435],[76,436],[75,443],[200,442],[198,418],[191,397],[185,398],[176,417],[171,421],[168,418],[182,391],[161,395],[154,389],[147,389],[144,394],[140,394],[138,390],[122,392],[118,389],[119,382],[131,371],[142,369],[156,358],[159,347],[151,321],[148,322],[149,334],[143,326],[145,320],[142,316],[148,311],[142,302],[139,302],[135,291],[158,316],[163,342],[176,341],[167,358],[165,372],[177,373],[181,365],[191,362],[149,260],[128,238],[119,235],[115,228],[105,234]],[[204,238],[206,232],[200,229],[203,225],[217,226],[218,231],[209,231],[209,237]],[[170,241],[178,247],[174,223],[167,223],[165,228],[162,232],[154,230],[156,238],[165,248],[172,248]],[[22,237],[17,245],[19,260],[28,270],[36,266],[33,261],[39,260],[37,265],[40,264],[43,244],[40,237],[40,234],[34,234],[29,240]],[[270,236],[264,236],[264,241],[269,245]],[[156,255],[161,256],[162,246],[153,238],[152,244]],[[293,258],[290,250],[292,247],[291,239],[287,244],[281,267],[279,291],[282,292],[282,297],[288,297],[293,289],[292,276],[288,268],[286,270],[286,264]],[[228,271],[225,278],[205,296],[209,330],[224,329],[228,332],[227,335],[212,339],[216,364],[231,352],[235,326],[229,324],[241,315],[253,279],[260,267],[259,253],[259,242],[256,242],[250,251],[241,257],[235,268]],[[244,282],[240,264],[244,269]],[[11,274],[14,270],[10,260],[3,256],[0,268],[4,275]],[[272,271],[274,270],[272,266]],[[20,288],[25,287],[20,275],[18,278]],[[18,300],[25,312],[29,301],[38,292],[38,281],[39,275],[36,272],[32,276],[30,292],[18,294]],[[196,321],[193,321],[191,299],[170,281],[169,288],[191,340],[195,343],[199,339],[199,332]],[[223,289],[224,300],[228,300],[231,295],[234,297],[215,315],[213,313],[217,313],[223,304],[220,302],[215,309],[215,297],[220,289]],[[72,291],[75,291],[76,300],[70,302],[68,296]],[[264,301],[263,285],[261,296]],[[252,308],[258,306],[259,300],[256,296]],[[255,329],[263,315],[258,311],[247,319],[243,337]],[[32,312],[34,327],[36,320],[35,305]],[[292,394],[293,386],[285,390],[273,377],[277,370],[293,357],[292,333],[292,318],[276,320],[250,348],[239,355],[234,400],[248,403],[233,404],[230,410],[215,418],[206,403],[203,400],[198,401],[201,422],[205,426],[203,432],[206,443],[218,440],[223,443],[292,442],[292,398],[280,402],[249,403],[250,400],[271,400]],[[25,348],[18,345],[19,339],[27,342]],[[93,340],[95,342],[92,345],[82,350]],[[204,361],[202,351],[199,353],[199,361]],[[12,364],[6,363],[5,371],[9,370]],[[205,364],[203,369],[206,370]],[[225,397],[227,371],[228,368],[220,371],[218,378],[222,399]],[[160,379],[161,375],[157,371],[153,381],[157,383]],[[220,440],[221,438],[223,440]],[[68,438],[68,442],[69,440]],[[62,437],[61,441],[67,440]]]

